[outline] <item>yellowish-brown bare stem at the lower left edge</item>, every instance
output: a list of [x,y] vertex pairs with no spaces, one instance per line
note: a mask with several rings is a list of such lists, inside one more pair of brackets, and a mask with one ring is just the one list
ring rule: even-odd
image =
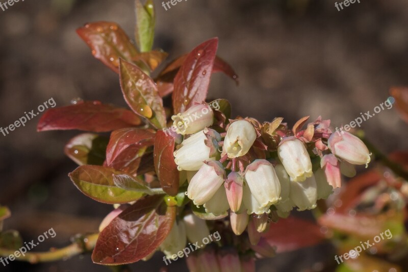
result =
[[[62,259],[67,259],[73,257],[75,255],[79,255],[85,252],[89,252],[93,250],[96,244],[96,240],[98,239],[99,234],[90,234],[87,236],[83,236],[72,244],[66,246],[62,249],[51,249],[48,252],[27,252],[22,256],[20,254],[19,257],[16,257],[16,260],[19,261],[26,261],[30,263],[39,263],[39,262],[53,262]],[[8,257],[10,255],[14,255],[15,250],[7,250],[0,248],[0,256],[1,257]]]

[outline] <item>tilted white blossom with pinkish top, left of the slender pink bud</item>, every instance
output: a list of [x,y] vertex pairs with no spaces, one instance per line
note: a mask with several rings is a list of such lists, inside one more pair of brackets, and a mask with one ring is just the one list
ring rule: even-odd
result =
[[191,179],[187,196],[193,200],[194,205],[208,202],[224,182],[224,176],[225,169],[220,162],[206,162]]

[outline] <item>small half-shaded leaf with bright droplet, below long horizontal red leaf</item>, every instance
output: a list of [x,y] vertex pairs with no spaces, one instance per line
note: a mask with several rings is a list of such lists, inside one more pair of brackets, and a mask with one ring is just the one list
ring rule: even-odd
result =
[[64,153],[79,165],[103,165],[108,142],[108,137],[83,133],[69,140]]

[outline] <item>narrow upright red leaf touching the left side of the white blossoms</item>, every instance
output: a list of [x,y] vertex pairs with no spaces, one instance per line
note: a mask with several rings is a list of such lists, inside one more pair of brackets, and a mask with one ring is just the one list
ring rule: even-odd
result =
[[159,130],[155,140],[155,169],[163,190],[176,195],[179,192],[180,174],[174,162],[174,138]]

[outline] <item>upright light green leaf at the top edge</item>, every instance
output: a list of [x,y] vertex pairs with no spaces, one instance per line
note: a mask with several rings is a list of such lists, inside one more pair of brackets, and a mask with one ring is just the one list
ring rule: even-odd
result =
[[155,39],[155,4],[147,0],[146,4],[136,0],[136,42],[141,52],[149,52]]

